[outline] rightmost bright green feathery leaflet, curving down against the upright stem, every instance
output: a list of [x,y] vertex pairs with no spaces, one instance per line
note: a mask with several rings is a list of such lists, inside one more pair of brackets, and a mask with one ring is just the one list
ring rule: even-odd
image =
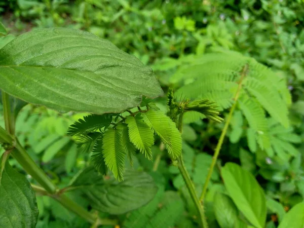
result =
[[[162,111],[149,110],[142,114],[144,122],[161,137],[169,155],[176,159],[181,153],[181,135],[176,125]],[[170,130],[169,130],[170,129]]]

